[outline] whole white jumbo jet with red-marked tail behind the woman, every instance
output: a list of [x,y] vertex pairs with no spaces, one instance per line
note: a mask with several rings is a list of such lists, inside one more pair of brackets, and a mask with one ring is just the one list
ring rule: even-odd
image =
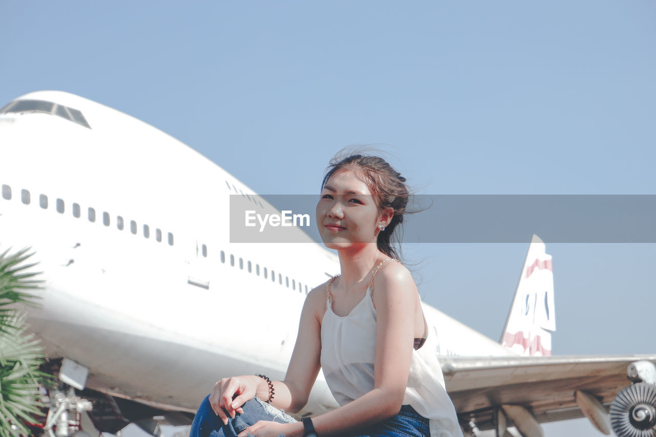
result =
[[[335,254],[298,227],[295,243],[231,243],[230,196],[280,212],[171,136],[73,94],[9,102],[0,148],[0,243],[35,252],[31,329],[98,430],[156,435],[221,377],[284,377],[304,297],[338,272]],[[551,265],[533,236],[499,343],[424,305],[465,434],[541,436],[539,423],[586,415],[606,434],[656,436],[656,355],[550,356]],[[51,396],[50,435],[77,427],[84,402],[66,395]],[[319,375],[299,415],[336,405]]]

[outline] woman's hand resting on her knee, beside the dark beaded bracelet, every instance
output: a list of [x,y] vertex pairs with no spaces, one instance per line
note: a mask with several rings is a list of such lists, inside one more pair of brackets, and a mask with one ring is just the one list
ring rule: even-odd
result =
[[209,404],[225,425],[228,423],[228,415],[235,417],[235,413],[243,413],[241,406],[246,401],[255,398],[262,383],[266,385],[268,394],[269,388],[266,381],[258,376],[243,375],[223,378],[214,385],[214,390],[209,396]]

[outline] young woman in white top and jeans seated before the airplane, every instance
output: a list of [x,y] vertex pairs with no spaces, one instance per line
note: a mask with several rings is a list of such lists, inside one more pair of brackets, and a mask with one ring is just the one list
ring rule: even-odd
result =
[[[190,436],[462,436],[435,348],[424,344],[417,286],[391,243],[406,213],[405,178],[376,156],[329,168],[316,217],[341,274],[308,293],[285,381],[218,381]],[[276,410],[304,407],[320,368],[340,407],[302,422]]]

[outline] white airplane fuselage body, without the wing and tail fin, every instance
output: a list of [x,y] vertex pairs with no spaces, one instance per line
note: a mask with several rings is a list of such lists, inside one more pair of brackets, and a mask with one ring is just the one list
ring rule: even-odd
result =
[[[54,106],[0,114],[0,244],[35,252],[42,299],[28,311],[47,356],[88,367],[91,388],[187,411],[221,377],[282,379],[306,293],[338,272],[337,256],[304,234],[230,243],[231,195],[262,217],[279,211],[129,115],[66,93],[19,99]],[[438,355],[513,355],[424,313]],[[303,412],[334,406],[319,375]]]

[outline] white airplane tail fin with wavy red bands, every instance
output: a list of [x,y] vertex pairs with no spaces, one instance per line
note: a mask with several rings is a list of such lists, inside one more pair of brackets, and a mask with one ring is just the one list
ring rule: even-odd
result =
[[499,343],[523,356],[551,355],[555,316],[551,255],[533,234]]

